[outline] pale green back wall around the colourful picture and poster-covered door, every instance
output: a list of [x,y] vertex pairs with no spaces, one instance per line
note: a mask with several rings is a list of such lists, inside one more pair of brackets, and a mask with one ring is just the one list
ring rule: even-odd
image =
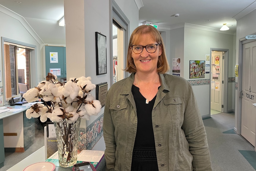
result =
[[[233,38],[231,32],[227,34],[221,33],[217,29],[209,29],[201,26],[194,26],[185,23],[179,28],[170,30],[170,61],[172,58],[181,58],[181,76],[188,81],[189,79],[189,60],[205,60],[206,54],[210,54],[210,48],[229,49],[229,68],[228,76],[232,76],[233,72]],[[172,63],[170,63],[170,68]],[[203,80],[209,79],[209,74],[206,74]],[[197,103],[202,116],[209,114],[209,84],[192,86]],[[232,109],[234,87],[229,85],[228,90],[228,109]],[[234,109],[234,108],[233,108]]]

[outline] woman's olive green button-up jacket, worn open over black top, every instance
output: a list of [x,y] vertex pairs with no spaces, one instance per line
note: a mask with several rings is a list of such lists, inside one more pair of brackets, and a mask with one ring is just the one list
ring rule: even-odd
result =
[[[161,87],[152,110],[159,171],[211,171],[202,117],[191,85],[160,74]],[[130,171],[137,129],[132,95],[134,73],[108,90],[103,121],[106,171]]]

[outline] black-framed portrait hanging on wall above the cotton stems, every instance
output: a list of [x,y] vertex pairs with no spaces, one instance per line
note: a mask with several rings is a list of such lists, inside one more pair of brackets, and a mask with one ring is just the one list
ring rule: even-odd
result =
[[95,32],[96,41],[96,75],[107,73],[106,36]]

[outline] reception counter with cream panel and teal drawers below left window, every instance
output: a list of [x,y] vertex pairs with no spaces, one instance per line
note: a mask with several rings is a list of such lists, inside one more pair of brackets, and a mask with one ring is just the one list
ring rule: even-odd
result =
[[24,152],[34,143],[34,118],[26,118],[29,107],[8,106],[9,111],[0,113],[0,168],[4,166],[4,152]]

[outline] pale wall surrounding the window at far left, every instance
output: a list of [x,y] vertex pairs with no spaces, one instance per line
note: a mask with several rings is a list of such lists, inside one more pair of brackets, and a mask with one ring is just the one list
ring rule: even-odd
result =
[[[23,17],[17,15],[16,13],[4,8],[0,5],[0,23],[2,26],[0,27],[0,36],[2,37],[19,41],[22,43],[30,44],[36,47],[35,55],[30,59],[31,62],[31,87],[37,86],[38,82],[43,79],[42,76],[42,61],[41,61],[41,47],[42,40],[37,36],[37,34],[29,27],[28,23],[24,20]],[[1,43],[2,47],[2,43]],[[1,61],[0,61],[0,70],[1,70],[1,78],[0,87],[4,87],[5,92],[5,79],[4,79],[4,51],[0,48]],[[5,94],[5,93],[4,93]],[[5,99],[4,96],[1,96]]]

